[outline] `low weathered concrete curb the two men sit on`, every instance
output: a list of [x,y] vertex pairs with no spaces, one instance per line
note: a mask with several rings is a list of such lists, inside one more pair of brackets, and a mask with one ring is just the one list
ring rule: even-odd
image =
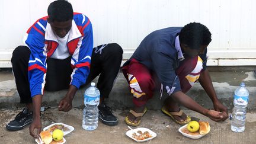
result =
[[[249,74],[247,73],[247,76],[244,76],[244,79],[242,80],[248,81],[248,84],[251,85],[247,87],[250,92],[248,108],[255,110],[256,88],[252,86],[256,85],[256,81],[255,78],[253,79],[251,77],[251,75],[253,75],[253,72],[250,72]],[[235,84],[239,85],[239,82],[237,81],[240,80],[234,79],[233,81],[236,81]],[[95,82],[97,82],[97,79],[95,79]],[[213,82],[213,86],[215,87],[219,100],[222,101],[222,103],[225,104],[229,109],[233,107],[233,92],[236,88],[238,88],[238,86],[231,85],[231,83],[232,82]],[[15,88],[14,80],[0,82],[0,88],[0,94],[5,96],[0,97],[0,108],[21,107],[21,104],[19,103],[20,97],[18,96],[17,90]],[[72,103],[73,107],[84,107],[84,91],[86,88],[87,87],[83,87],[76,92]],[[43,96],[43,105],[57,107],[57,104],[65,96],[66,92],[67,90],[56,92],[46,91]],[[187,94],[196,100],[197,103],[203,105],[203,107],[213,108],[212,101],[207,96],[206,92],[204,92],[204,89],[200,86],[199,83],[196,83]],[[159,92],[155,92],[154,97],[148,101],[147,107],[152,110],[159,110],[162,107],[162,103],[166,97],[168,97],[168,95],[164,94],[160,100]],[[105,100],[105,103],[114,109],[126,109],[133,106],[132,95],[129,92],[126,79],[122,73],[119,73],[119,77],[117,78],[116,84],[111,91],[110,97]]]

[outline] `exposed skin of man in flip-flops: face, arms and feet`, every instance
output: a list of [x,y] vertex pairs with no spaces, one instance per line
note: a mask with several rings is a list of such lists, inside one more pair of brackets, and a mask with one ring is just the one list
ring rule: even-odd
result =
[[[181,43],[180,46],[183,52],[185,53],[184,57],[194,57],[203,54],[204,50],[207,47],[207,45],[202,45],[199,50],[194,50],[190,49],[190,47],[188,47],[187,44]],[[224,121],[228,119],[228,108],[225,107],[218,100],[215,89],[213,88],[212,85],[212,80],[210,79],[210,75],[207,69],[200,73],[199,82],[206,91],[207,95],[209,95],[209,97],[211,98],[215,110],[207,110],[206,108],[196,103],[196,101],[194,101],[192,98],[190,98],[188,95],[184,94],[181,91],[175,92],[174,94],[171,94],[170,97],[165,99],[164,104],[166,105],[168,110],[172,112],[178,112],[180,111],[180,107],[178,104],[182,104],[190,110],[197,111],[198,113],[203,114],[204,116],[207,116],[214,121]],[[142,113],[144,108],[145,105],[142,105],[141,107],[135,106],[132,108],[132,110],[136,111],[136,113]],[[129,117],[130,120],[133,121],[133,123],[137,123],[137,121],[141,119],[141,117],[136,118],[130,113],[128,113],[127,116]],[[187,115],[184,113],[182,116],[174,116],[174,119],[177,119],[178,121],[184,121],[186,118]]]

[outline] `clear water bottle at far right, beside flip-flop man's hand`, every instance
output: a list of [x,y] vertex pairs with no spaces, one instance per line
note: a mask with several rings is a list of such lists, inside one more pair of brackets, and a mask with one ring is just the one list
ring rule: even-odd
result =
[[249,91],[245,88],[245,83],[242,82],[240,87],[235,90],[233,99],[233,112],[231,121],[231,130],[233,132],[244,132],[245,117],[247,113],[247,105],[249,101]]

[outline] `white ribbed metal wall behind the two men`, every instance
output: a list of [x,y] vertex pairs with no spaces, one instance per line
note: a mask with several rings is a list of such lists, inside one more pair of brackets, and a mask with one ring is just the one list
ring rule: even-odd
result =
[[[0,67],[10,67],[12,50],[28,27],[47,15],[49,0],[0,0]],[[70,0],[92,21],[94,46],[119,43],[124,59],[151,31],[200,22],[212,32],[209,65],[256,65],[254,0]]]

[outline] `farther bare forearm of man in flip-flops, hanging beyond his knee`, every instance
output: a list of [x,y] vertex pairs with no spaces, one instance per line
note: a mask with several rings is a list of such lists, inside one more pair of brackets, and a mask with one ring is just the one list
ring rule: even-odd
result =
[[212,79],[210,78],[207,69],[200,73],[199,82],[203,89],[206,91],[207,95],[209,95],[213,103],[219,101],[215,89],[213,88]]

